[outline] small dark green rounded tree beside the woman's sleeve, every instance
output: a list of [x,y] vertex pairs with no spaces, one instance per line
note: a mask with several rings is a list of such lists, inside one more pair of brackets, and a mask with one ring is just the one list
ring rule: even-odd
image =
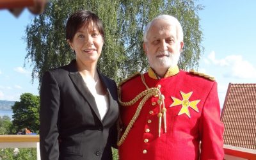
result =
[[39,131],[40,98],[31,93],[20,95],[20,101],[12,106],[12,127],[15,132],[29,128],[33,132]]

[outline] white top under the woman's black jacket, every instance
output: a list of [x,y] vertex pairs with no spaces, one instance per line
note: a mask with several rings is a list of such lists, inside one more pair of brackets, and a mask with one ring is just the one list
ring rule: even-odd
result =
[[99,76],[96,82],[94,81],[94,79],[86,79],[85,84],[90,90],[90,92],[92,93],[95,99],[98,111],[100,113],[100,118],[101,120],[103,120],[109,108],[109,99],[108,99],[108,92],[105,95],[100,95],[99,93],[97,93],[96,85],[98,82],[99,82]]

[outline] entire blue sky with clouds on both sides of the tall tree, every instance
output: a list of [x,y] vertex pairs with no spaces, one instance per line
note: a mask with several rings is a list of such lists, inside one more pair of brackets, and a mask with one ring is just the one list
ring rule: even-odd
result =
[[[228,83],[256,83],[256,1],[198,3],[205,6],[198,13],[205,47],[199,71],[216,77],[222,107]],[[25,92],[38,95],[38,81],[31,84],[31,63],[24,67],[26,44],[22,40],[33,18],[28,10],[18,18],[0,10],[0,100],[19,100]]]

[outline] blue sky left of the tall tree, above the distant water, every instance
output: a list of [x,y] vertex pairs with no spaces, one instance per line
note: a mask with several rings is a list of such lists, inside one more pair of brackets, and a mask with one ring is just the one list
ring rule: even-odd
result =
[[31,63],[24,67],[26,43],[22,40],[34,17],[28,10],[18,18],[0,10],[0,100],[19,100],[26,92],[38,95],[38,81],[31,83]]

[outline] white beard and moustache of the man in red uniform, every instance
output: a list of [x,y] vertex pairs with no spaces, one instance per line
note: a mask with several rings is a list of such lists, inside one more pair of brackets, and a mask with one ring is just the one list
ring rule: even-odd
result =
[[[163,52],[157,52],[156,55],[163,54]],[[154,70],[159,69],[168,69],[170,67],[175,67],[178,64],[179,58],[180,58],[180,53],[171,53],[169,51],[164,52],[164,56],[162,58],[157,58],[155,55],[153,56],[147,56],[148,58],[148,63],[151,68]]]

